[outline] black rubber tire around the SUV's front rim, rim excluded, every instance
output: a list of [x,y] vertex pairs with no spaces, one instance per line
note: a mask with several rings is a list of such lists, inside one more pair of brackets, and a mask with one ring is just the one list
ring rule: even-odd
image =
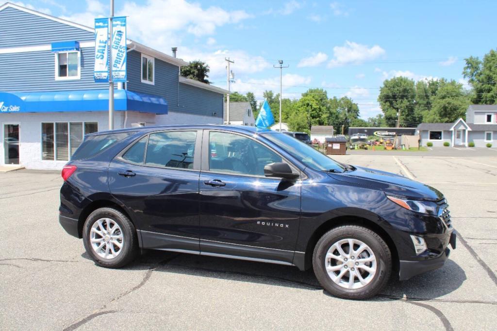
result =
[[[376,273],[371,281],[361,288],[347,289],[339,286],[332,281],[326,270],[328,250],[342,239],[356,239],[363,242],[371,248],[376,257]],[[368,299],[375,296],[387,284],[392,272],[392,255],[388,245],[374,231],[357,225],[342,225],[331,229],[318,241],[314,248],[313,268],[320,284],[332,295],[344,299]]]

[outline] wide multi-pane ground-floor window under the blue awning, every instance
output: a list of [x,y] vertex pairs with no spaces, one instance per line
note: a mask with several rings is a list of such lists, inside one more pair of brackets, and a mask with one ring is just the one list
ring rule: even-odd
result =
[[98,131],[97,122],[41,123],[41,159],[69,161],[83,142],[84,134]]

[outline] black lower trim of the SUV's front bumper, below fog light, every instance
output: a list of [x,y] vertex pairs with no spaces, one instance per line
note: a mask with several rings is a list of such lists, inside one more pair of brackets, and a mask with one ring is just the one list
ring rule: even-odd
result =
[[[456,233],[455,233],[455,231],[453,231],[450,234],[449,243],[450,243],[450,246],[452,247],[452,249],[456,248]],[[407,280],[407,279],[414,277],[416,275],[419,275],[421,273],[425,273],[425,272],[428,272],[431,270],[441,268],[445,264],[445,261],[449,257],[449,254],[450,254],[450,249],[448,247],[446,247],[445,250],[443,251],[443,253],[440,254],[440,256],[435,257],[435,258],[418,260],[418,261],[400,260],[399,279],[400,280]]]

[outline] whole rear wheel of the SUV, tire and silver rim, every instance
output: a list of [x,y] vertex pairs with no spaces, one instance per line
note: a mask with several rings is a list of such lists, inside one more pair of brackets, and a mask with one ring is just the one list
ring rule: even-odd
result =
[[120,268],[138,252],[138,238],[133,223],[114,208],[93,211],[83,227],[83,243],[88,255],[100,266]]

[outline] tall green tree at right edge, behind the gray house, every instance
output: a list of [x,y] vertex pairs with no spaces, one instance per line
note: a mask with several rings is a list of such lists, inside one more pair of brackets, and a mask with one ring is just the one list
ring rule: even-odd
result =
[[497,51],[490,50],[483,61],[478,57],[465,59],[463,76],[473,87],[471,101],[475,104],[497,103]]

